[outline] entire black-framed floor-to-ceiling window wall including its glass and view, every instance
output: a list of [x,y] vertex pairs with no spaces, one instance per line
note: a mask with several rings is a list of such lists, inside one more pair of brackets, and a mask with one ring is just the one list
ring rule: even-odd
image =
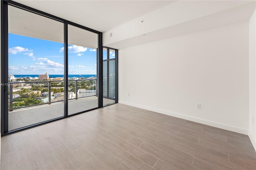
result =
[[118,51],[106,47],[103,61],[102,33],[16,2],[1,6],[2,135],[117,102]]

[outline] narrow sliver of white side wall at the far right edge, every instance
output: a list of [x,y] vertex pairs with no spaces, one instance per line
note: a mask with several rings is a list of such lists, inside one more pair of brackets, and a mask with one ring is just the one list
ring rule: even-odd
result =
[[249,137],[256,150],[256,13],[249,21]]

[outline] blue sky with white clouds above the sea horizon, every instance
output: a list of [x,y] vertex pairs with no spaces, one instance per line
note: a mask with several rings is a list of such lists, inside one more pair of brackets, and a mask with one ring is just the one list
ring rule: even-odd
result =
[[[9,33],[8,74],[64,74],[64,43]],[[68,74],[96,74],[96,49],[68,45]]]

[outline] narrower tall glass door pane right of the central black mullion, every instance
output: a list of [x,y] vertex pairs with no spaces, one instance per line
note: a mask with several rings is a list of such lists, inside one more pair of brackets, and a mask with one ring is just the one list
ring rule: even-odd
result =
[[68,25],[68,115],[98,107],[98,34]]

